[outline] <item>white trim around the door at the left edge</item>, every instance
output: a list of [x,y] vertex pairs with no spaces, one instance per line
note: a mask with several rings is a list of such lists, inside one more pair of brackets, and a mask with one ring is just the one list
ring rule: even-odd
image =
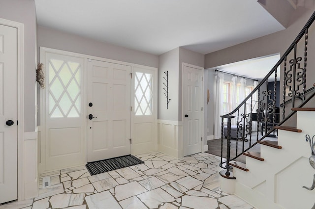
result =
[[18,200],[24,200],[24,24],[0,18],[0,24],[17,28],[17,166]]

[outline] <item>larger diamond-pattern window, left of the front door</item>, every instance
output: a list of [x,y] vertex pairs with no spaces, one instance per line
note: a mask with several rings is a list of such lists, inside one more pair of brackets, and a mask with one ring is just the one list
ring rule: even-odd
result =
[[81,64],[49,60],[49,117],[74,118],[81,113]]

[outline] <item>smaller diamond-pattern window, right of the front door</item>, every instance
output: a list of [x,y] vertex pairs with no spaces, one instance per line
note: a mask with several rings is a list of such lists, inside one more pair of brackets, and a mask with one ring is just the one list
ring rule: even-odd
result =
[[135,96],[134,96],[134,106],[135,115],[152,115],[152,103],[153,103],[153,93],[152,93],[152,78],[153,75],[149,73],[135,73]]

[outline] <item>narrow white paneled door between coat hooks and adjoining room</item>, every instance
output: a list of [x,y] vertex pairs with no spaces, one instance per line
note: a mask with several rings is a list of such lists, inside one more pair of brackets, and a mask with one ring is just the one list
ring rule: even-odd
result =
[[183,68],[183,151],[188,156],[202,151],[202,70]]

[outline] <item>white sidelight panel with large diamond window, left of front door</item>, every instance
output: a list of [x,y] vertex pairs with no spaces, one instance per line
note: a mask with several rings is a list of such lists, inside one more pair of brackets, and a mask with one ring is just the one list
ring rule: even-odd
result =
[[45,51],[41,59],[46,68],[45,170],[82,165],[86,162],[84,59]]

